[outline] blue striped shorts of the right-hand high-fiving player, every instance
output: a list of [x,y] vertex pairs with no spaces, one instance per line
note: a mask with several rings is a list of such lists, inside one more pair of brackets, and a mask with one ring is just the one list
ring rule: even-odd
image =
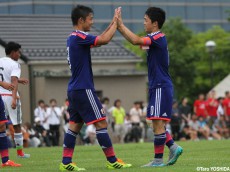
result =
[[171,120],[173,102],[173,88],[153,88],[149,90],[149,105],[147,119]]

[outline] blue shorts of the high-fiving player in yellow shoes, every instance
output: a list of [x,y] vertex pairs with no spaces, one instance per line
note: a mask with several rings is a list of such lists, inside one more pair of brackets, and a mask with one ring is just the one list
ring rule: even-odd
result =
[[91,89],[68,92],[70,123],[93,124],[106,119],[96,93]]

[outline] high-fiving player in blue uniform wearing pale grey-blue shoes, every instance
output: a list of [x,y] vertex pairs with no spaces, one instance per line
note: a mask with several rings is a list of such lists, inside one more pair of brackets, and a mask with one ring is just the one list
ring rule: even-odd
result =
[[163,153],[165,144],[169,147],[169,159],[166,165],[173,165],[183,149],[174,143],[166,131],[165,124],[170,121],[173,101],[173,84],[168,72],[169,54],[165,35],[160,31],[165,22],[165,12],[157,7],[150,7],[145,12],[145,37],[131,32],[122,22],[121,12],[118,17],[119,32],[132,44],[145,46],[147,49],[149,105],[147,119],[152,120],[154,130],[154,160],[144,167],[165,166]]

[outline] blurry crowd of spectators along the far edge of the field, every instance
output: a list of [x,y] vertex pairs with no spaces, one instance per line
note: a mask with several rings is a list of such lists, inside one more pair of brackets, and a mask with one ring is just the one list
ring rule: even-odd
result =
[[[152,141],[151,122],[146,120],[147,104],[135,101],[133,107],[126,111],[122,101],[117,99],[110,106],[109,98],[101,99],[107,116],[108,130],[116,143]],[[51,99],[49,105],[43,100],[38,101],[34,110],[33,125],[26,122],[23,127],[24,147],[58,146],[60,135],[65,133],[69,124],[68,100],[62,107]],[[193,106],[192,106],[193,105]],[[225,97],[216,98],[215,91],[206,97],[200,94],[194,102],[184,97],[181,102],[174,100],[172,119],[167,124],[167,130],[174,140],[213,140],[230,137],[230,93]],[[8,123],[9,140],[13,140],[12,124]],[[83,126],[79,134],[79,144],[97,144],[94,125]],[[13,146],[13,142],[9,142]]]

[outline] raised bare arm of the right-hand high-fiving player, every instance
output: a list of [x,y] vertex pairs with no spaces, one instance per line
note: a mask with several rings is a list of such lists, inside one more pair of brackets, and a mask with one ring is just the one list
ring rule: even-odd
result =
[[139,37],[129,30],[123,23],[121,17],[121,10],[118,11],[118,30],[119,32],[133,45],[146,45],[145,38]]

